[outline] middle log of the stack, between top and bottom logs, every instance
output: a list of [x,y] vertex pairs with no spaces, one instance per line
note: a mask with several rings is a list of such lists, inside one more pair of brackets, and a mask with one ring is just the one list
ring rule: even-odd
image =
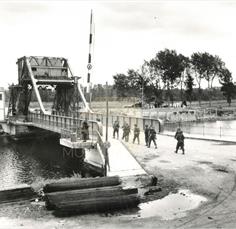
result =
[[69,203],[78,200],[85,200],[99,197],[112,197],[137,194],[138,189],[122,189],[122,186],[101,187],[81,190],[69,190],[64,192],[53,192],[45,195],[46,207],[48,210],[55,208],[57,204]]

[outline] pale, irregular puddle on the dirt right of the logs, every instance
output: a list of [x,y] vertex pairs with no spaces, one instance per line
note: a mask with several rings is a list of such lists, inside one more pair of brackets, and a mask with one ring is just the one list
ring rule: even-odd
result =
[[179,190],[163,199],[142,203],[139,205],[138,217],[148,218],[158,216],[163,220],[172,220],[187,215],[188,210],[197,208],[207,198],[191,193],[189,190]]

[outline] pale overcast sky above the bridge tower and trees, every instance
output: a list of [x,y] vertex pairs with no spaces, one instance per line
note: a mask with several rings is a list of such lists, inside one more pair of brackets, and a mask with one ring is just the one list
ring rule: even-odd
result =
[[140,69],[165,48],[218,55],[236,81],[236,1],[0,1],[0,87],[17,83],[17,58],[69,60],[86,81],[90,12],[94,84]]

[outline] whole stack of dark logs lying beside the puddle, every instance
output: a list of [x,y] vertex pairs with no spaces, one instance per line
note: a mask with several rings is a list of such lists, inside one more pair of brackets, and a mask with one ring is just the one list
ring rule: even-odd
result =
[[46,207],[56,216],[136,207],[137,188],[123,189],[119,177],[84,178],[44,187]]

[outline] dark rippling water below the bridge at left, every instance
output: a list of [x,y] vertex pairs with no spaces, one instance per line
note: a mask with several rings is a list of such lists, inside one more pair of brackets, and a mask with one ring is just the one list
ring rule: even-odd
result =
[[56,136],[26,142],[0,138],[0,188],[68,177],[80,172],[78,166],[79,161],[63,155]]

